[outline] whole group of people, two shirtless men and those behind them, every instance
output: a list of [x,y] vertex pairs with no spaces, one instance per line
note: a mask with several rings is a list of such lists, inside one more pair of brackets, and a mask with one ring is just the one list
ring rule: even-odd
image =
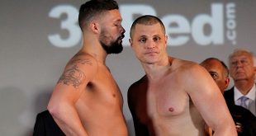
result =
[[[36,116],[34,135],[129,135],[123,96],[106,65],[108,54],[123,49],[121,22],[115,0],[81,5],[82,48],[65,66],[48,110]],[[168,55],[167,41],[157,16],[139,16],[130,27],[130,47],[145,70],[127,96],[135,135],[255,136],[254,54],[235,49],[229,67],[216,58],[196,63]]]

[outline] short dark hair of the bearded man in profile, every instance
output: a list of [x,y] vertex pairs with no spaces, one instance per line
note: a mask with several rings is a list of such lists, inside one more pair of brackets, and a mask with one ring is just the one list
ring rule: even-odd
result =
[[78,23],[83,30],[84,26],[88,25],[88,22],[92,20],[94,16],[99,16],[102,12],[119,9],[115,0],[90,0],[83,3],[79,9]]

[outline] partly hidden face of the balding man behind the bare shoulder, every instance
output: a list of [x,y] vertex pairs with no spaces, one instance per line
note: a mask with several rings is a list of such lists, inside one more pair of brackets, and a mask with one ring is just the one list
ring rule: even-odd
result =
[[223,94],[225,89],[229,86],[230,79],[225,76],[225,68],[222,64],[215,59],[207,60],[201,63],[201,66],[211,74],[221,93]]

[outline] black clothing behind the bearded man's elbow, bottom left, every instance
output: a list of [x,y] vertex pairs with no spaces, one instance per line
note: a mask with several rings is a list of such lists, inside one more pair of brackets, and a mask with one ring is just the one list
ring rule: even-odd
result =
[[48,110],[45,110],[36,115],[36,123],[34,126],[33,136],[64,136],[65,134],[59,129],[58,124],[50,115]]

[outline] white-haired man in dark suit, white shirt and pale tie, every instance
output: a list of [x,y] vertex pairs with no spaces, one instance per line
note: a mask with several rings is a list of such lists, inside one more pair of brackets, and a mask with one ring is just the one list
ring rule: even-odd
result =
[[245,49],[235,49],[229,56],[229,66],[235,87],[224,92],[227,104],[243,106],[256,115],[254,55]]

